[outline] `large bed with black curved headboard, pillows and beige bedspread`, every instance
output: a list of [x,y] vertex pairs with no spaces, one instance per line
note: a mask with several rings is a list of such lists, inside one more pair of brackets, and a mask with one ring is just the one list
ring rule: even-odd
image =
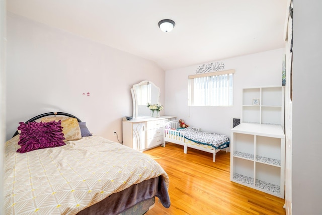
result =
[[147,155],[68,113],[19,124],[5,146],[5,214],[144,214],[155,196],[170,207],[169,177]]

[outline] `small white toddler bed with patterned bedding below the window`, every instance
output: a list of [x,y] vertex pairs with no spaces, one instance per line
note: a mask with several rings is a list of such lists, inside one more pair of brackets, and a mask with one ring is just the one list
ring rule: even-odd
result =
[[181,128],[178,120],[169,121],[164,125],[164,142],[173,142],[184,146],[184,153],[188,148],[201,150],[213,154],[213,162],[216,161],[216,153],[225,149],[228,152],[229,137],[224,134],[202,132],[196,127]]

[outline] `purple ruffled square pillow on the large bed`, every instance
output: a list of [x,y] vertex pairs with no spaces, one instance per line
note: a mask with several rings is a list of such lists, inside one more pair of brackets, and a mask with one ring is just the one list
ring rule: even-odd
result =
[[18,153],[30,152],[38,149],[61,147],[65,145],[61,120],[55,122],[19,122],[21,130]]

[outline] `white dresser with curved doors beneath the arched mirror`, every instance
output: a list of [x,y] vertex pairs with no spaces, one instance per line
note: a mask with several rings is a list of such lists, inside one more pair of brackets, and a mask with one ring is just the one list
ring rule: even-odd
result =
[[163,144],[163,126],[175,116],[146,117],[123,121],[123,145],[144,151]]

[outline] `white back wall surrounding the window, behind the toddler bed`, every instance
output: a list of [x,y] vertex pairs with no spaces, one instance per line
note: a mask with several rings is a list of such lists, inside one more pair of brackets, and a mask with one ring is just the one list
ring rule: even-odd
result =
[[224,70],[235,69],[231,107],[188,107],[188,76],[194,75],[197,68],[203,64],[166,71],[166,114],[184,119],[187,124],[200,127],[203,131],[230,136],[232,118],[241,117],[243,88],[282,85],[284,53],[284,48],[281,48],[212,61],[223,62]]

